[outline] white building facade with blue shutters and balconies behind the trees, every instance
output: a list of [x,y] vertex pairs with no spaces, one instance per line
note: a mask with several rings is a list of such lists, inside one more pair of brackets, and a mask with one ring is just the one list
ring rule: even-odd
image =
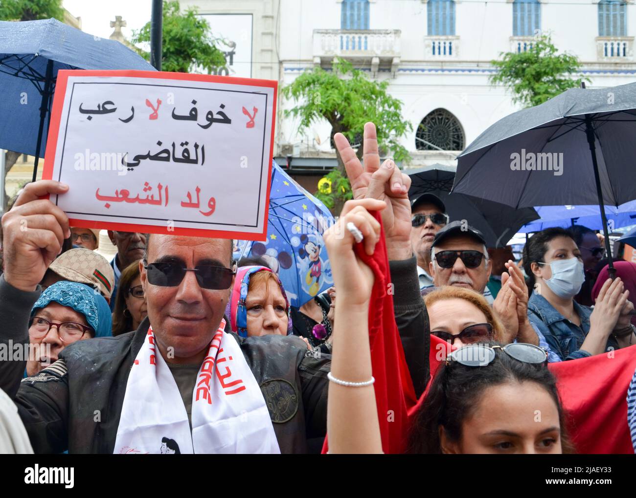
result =
[[[501,52],[526,50],[539,33],[550,33],[561,53],[576,55],[588,88],[636,79],[633,0],[198,0],[224,33],[219,14],[250,18],[250,76],[291,84],[316,65],[343,57],[380,81],[403,102],[413,131],[401,138],[409,168],[456,165],[455,156],[485,128],[520,107],[502,86],[491,86],[491,61]],[[223,18],[220,18],[221,20]],[[247,23],[245,23],[247,26]],[[228,74],[233,74],[230,68]],[[245,73],[241,74],[244,76]],[[237,74],[238,76],[238,74]],[[293,102],[279,97],[275,156],[314,174],[335,165],[329,124],[298,133],[285,118]],[[425,128],[420,124],[425,124]],[[379,124],[379,123],[378,123]],[[442,149],[442,150],[439,150]]]

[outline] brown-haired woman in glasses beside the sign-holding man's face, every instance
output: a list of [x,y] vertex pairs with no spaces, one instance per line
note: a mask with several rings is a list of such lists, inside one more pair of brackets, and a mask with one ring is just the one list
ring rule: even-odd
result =
[[115,297],[113,311],[113,335],[137,330],[146,316],[146,296],[141,286],[139,262],[135,261],[121,272],[119,292]]

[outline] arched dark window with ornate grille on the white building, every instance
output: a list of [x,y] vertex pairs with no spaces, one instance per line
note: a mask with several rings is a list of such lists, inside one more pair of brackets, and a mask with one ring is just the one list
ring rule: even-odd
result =
[[462,151],[464,146],[462,125],[446,109],[429,112],[415,132],[415,149],[418,151]]

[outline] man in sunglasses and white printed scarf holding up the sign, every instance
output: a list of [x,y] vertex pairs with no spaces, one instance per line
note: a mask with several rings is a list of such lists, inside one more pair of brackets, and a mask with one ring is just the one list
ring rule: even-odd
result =
[[[3,217],[0,342],[29,340],[38,283],[70,233],[66,214],[41,198],[68,188],[29,184]],[[148,318],[137,331],[75,342],[28,382],[24,361],[0,361],[0,388],[35,452],[157,453],[162,438],[181,453],[307,452],[326,432],[330,356],[307,355],[294,336],[224,332],[232,240],[153,234],[144,244]]]

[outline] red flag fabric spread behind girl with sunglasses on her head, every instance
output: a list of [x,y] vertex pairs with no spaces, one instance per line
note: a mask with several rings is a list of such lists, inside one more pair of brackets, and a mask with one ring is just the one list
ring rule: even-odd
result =
[[[444,346],[446,344],[446,346]],[[432,375],[445,360],[448,342],[431,335]],[[455,349],[455,348],[452,348]],[[579,454],[633,454],[627,424],[627,389],[636,370],[636,345],[579,360],[549,363],[563,410],[567,433]],[[409,410],[410,417],[424,403],[431,386]]]

